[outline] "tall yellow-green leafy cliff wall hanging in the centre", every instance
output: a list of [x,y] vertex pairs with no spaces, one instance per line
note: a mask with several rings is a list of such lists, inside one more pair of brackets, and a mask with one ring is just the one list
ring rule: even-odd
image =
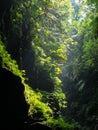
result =
[[[66,106],[64,105],[66,104],[65,101],[63,101],[65,94],[62,92],[62,81],[58,78],[58,75],[62,73],[60,67],[67,59],[64,44],[66,33],[60,20],[66,21],[69,17],[70,10],[68,10],[67,4],[70,5],[70,2],[61,0],[59,3],[58,8],[57,2],[50,0],[15,0],[10,9],[11,33],[9,35],[19,39],[19,48],[21,48],[22,54],[26,44],[29,44],[31,51],[34,52],[34,55],[32,55],[34,65],[30,64],[37,73],[38,79],[36,80],[39,81],[36,82],[39,82],[39,84],[44,82],[40,80],[41,75],[38,75],[40,71],[43,71],[43,74],[47,75],[53,83],[51,87],[55,88],[53,93],[57,96],[60,107],[64,107]],[[65,8],[66,11],[64,11]],[[29,81],[29,77],[27,78]],[[47,86],[41,87],[47,88]]]

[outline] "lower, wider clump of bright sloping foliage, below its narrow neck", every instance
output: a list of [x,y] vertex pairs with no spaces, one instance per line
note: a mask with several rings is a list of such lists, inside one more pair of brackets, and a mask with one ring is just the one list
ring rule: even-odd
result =
[[[52,109],[47,103],[42,101],[42,94],[40,92],[35,92],[28,84],[23,81],[25,86],[25,97],[27,103],[30,105],[28,115],[34,120],[46,120],[52,116]],[[37,116],[37,114],[40,115]]]

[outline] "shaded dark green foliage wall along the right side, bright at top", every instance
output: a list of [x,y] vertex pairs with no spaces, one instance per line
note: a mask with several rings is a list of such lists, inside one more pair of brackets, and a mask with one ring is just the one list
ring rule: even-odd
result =
[[81,1],[80,18],[69,23],[70,41],[77,44],[68,44],[67,61],[62,67],[68,103],[66,116],[79,121],[82,130],[94,129],[98,117],[98,7],[95,3],[90,1],[87,5]]

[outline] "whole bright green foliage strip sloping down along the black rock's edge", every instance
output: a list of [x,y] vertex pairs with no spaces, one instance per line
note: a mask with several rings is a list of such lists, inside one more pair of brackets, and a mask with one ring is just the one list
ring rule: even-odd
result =
[[[36,113],[41,112],[41,115],[38,115],[39,120],[48,119],[52,116],[52,110],[48,106],[48,104],[42,102],[42,94],[35,92],[31,87],[26,84],[27,78],[25,77],[25,71],[19,70],[17,62],[12,60],[11,55],[6,51],[4,43],[0,40],[0,57],[2,62],[2,67],[5,67],[13,74],[19,76],[21,78],[22,84],[25,87],[24,94],[27,103],[30,105],[28,110],[28,115],[33,116]],[[41,117],[42,116],[42,117]]]

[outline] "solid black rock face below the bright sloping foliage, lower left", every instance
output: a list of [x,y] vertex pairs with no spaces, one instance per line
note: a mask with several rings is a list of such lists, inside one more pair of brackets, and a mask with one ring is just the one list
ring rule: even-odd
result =
[[24,97],[21,79],[0,67],[1,125],[2,129],[24,128],[28,115],[28,104]]

